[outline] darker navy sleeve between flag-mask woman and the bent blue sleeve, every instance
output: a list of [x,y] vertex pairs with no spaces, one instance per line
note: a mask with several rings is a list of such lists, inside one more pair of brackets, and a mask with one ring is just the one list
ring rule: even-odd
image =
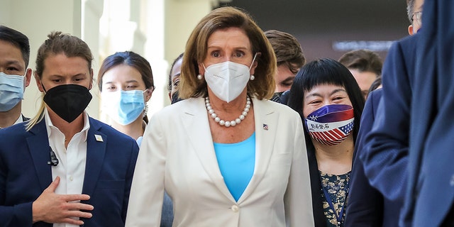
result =
[[365,135],[372,129],[381,92],[382,90],[371,92],[362,111],[361,128],[355,143],[345,226],[382,226],[383,196],[369,184],[358,155],[365,151]]

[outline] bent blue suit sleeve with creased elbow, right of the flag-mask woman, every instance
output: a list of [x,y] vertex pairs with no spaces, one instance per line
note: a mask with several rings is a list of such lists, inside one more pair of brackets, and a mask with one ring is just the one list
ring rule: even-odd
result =
[[372,131],[359,154],[370,184],[391,201],[403,201],[409,153],[411,84],[400,42],[390,48],[383,67],[383,97]]

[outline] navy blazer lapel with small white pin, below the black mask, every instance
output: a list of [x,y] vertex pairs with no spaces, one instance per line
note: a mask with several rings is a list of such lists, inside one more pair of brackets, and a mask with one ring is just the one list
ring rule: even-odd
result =
[[[87,134],[87,162],[85,165],[84,186],[82,194],[93,194],[96,182],[106,154],[107,136],[99,131],[101,126],[89,118],[90,128]],[[101,136],[102,140],[99,139]],[[96,138],[97,137],[97,138]]]

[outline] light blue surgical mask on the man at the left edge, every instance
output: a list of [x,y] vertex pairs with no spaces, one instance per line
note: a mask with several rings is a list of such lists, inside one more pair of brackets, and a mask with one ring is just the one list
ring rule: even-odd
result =
[[0,72],[0,112],[13,109],[23,99],[23,78]]

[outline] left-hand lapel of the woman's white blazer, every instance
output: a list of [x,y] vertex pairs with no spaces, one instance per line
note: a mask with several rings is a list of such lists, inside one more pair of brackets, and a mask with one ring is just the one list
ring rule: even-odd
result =
[[235,202],[219,170],[216,154],[214,153],[213,139],[209,130],[204,99],[188,99],[187,106],[185,107],[187,108],[184,109],[181,116],[182,125],[197,157],[199,157],[201,165],[216,187],[228,199]]

